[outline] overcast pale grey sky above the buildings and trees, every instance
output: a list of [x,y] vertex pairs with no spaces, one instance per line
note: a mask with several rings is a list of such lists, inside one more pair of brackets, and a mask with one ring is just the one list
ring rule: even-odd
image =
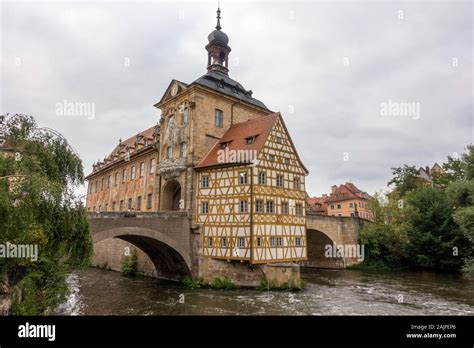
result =
[[[86,174],[159,120],[153,104],[172,79],[206,72],[216,25],[216,1],[0,6],[0,112],[61,132]],[[386,189],[391,167],[441,164],[473,142],[470,1],[222,0],[221,10],[230,77],[281,111],[310,195],[346,181]],[[65,100],[93,103],[94,119],[58,114]],[[401,102],[412,113],[397,115]]]

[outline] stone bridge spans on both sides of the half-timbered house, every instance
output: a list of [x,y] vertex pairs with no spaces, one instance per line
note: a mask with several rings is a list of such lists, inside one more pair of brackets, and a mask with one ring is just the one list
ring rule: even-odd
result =
[[[99,259],[107,262],[122,260],[124,245],[129,244],[117,241],[119,239],[144,253],[150,263],[150,272],[158,278],[177,280],[183,275],[197,276],[198,271],[204,272],[207,263],[211,262],[203,261],[199,255],[200,235],[193,233],[191,216],[187,212],[89,213],[88,220],[95,258],[100,254]],[[308,260],[301,265],[340,269],[357,263],[356,257],[326,257],[325,248],[334,244],[357,245],[363,223],[359,218],[307,215]],[[95,261],[100,264],[97,259]],[[120,270],[120,261],[112,268]]]

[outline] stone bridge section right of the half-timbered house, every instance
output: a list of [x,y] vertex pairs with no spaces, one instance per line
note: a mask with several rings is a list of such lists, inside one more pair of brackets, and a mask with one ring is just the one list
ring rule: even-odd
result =
[[[347,266],[359,263],[357,257],[358,238],[360,227],[368,223],[357,217],[339,217],[327,215],[306,215],[306,233],[308,239],[308,260],[302,262],[305,267],[316,268],[346,268]],[[329,248],[334,251],[331,257],[327,257],[326,251]],[[337,249],[343,247],[347,254],[339,257]],[[346,257],[352,253],[354,257]],[[359,254],[360,255],[360,254]]]

